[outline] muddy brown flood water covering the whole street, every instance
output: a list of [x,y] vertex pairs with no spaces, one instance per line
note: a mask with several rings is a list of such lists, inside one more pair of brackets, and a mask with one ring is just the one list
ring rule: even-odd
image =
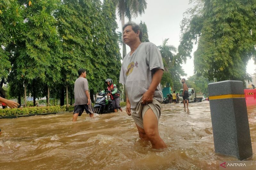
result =
[[[247,109],[256,160],[256,106]],[[214,153],[209,101],[163,104],[164,150],[141,140],[125,111],[71,121],[72,113],[0,119],[0,169],[219,169],[237,160]]]

